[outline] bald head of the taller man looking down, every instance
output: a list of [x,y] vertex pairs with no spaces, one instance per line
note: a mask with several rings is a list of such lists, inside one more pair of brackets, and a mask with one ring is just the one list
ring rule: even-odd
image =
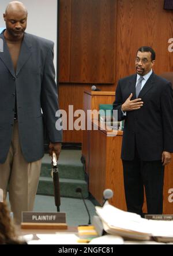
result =
[[27,28],[27,8],[18,1],[10,2],[7,5],[3,18],[6,23],[4,35],[10,40],[20,40]]

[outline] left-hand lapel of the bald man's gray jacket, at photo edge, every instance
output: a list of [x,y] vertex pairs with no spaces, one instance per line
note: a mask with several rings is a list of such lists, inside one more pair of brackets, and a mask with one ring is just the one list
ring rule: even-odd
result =
[[5,38],[4,38],[3,34],[0,34],[0,38],[3,40],[3,52],[0,53],[0,58],[3,61],[3,63],[5,64],[6,68],[12,74],[12,76],[15,77],[16,75],[15,75],[15,72],[14,72],[12,58],[10,56],[9,49],[7,47],[7,44],[6,44],[6,41],[5,41]]

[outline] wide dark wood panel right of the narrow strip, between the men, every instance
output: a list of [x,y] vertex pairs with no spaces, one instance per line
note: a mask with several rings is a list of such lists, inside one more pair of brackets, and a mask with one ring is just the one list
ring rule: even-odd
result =
[[73,83],[115,83],[115,0],[73,0]]

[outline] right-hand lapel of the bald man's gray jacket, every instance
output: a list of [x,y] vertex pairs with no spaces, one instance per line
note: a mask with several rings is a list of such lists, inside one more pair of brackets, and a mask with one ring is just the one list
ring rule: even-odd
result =
[[25,33],[24,40],[21,46],[20,55],[18,57],[16,76],[18,75],[18,73],[20,73],[22,66],[24,66],[25,62],[28,61],[31,54],[32,54],[32,44],[29,41],[28,34]]

